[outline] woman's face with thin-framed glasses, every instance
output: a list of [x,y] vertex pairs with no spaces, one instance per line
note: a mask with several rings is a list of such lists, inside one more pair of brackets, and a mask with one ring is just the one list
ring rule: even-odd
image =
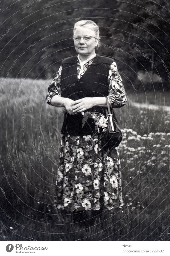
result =
[[[82,38],[82,36],[87,38]],[[91,37],[94,36],[94,37]],[[76,40],[76,38],[80,40]],[[81,37],[81,38],[80,38]],[[91,55],[95,53],[95,46],[97,46],[98,40],[95,38],[93,30],[85,27],[77,27],[74,32],[74,46],[76,52],[80,55]]]

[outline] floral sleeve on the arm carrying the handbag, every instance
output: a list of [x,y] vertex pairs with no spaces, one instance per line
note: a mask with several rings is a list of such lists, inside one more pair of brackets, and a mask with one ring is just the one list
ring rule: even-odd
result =
[[108,100],[111,103],[113,108],[121,108],[125,105],[126,93],[125,88],[122,84],[122,78],[117,70],[116,62],[113,61],[110,65],[109,71],[109,95],[107,96]]

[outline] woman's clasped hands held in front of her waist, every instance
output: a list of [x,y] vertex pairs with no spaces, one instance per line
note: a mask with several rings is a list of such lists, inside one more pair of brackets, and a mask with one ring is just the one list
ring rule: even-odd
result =
[[94,106],[94,99],[92,97],[85,97],[79,100],[66,100],[65,108],[69,112],[70,115],[75,115],[77,113],[82,113],[84,115],[84,111],[90,109]]

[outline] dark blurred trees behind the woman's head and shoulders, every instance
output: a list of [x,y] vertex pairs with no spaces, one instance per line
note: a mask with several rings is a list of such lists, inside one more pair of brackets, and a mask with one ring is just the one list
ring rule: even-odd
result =
[[63,58],[76,55],[72,39],[74,23],[91,19],[100,27],[102,44],[97,52],[115,58],[119,69],[128,74],[131,81],[136,80],[138,71],[147,70],[151,76],[159,72],[165,84],[168,83],[160,62],[163,58],[170,70],[168,1],[34,0],[28,6],[29,2],[1,2],[0,36],[12,26],[0,40],[2,76],[6,76],[14,60],[19,58],[9,77],[53,77]]

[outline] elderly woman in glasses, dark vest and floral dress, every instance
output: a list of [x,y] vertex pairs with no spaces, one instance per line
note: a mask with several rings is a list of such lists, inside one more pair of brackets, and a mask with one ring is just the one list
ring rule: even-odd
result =
[[55,206],[81,221],[83,212],[92,218],[124,205],[118,147],[102,148],[97,122],[86,113],[104,115],[106,97],[113,108],[127,100],[115,61],[95,53],[100,45],[97,24],[76,22],[73,39],[78,56],[62,61],[46,101],[65,109]]

